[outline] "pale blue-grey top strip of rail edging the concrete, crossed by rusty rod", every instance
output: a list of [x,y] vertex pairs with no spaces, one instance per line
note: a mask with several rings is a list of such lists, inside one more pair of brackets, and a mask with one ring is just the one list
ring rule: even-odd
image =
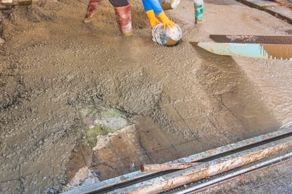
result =
[[[201,152],[201,153],[198,153],[198,154],[194,154],[194,155],[191,155],[191,156],[188,156],[188,157],[184,157],[184,158],[181,158],[181,159],[178,159],[178,160],[175,160],[175,161],[171,161],[171,162],[166,162],[166,163],[196,162],[196,161],[199,161],[199,160],[203,160],[203,159],[206,159],[206,158],[210,158],[210,157],[213,157],[213,156],[217,156],[217,155],[220,155],[220,154],[231,152],[233,150],[237,150],[237,149],[240,149],[240,148],[245,147],[245,146],[251,146],[251,145],[263,142],[263,141],[268,141],[268,140],[271,140],[273,138],[277,138],[279,136],[287,135],[287,134],[290,134],[290,133],[292,133],[292,129],[291,128],[283,127],[283,129],[279,129],[279,130],[276,130],[274,132],[270,132],[270,133],[267,133],[267,134],[264,134],[264,135],[253,137],[253,138],[250,138],[250,139],[247,139],[247,140],[243,140],[243,141],[240,141],[240,142],[237,142],[237,143],[234,143],[234,144],[229,144],[229,145],[226,145],[226,146],[221,146],[221,147],[218,147],[218,148],[207,150],[207,151],[204,151],[204,152]],[[65,192],[64,194],[81,194],[81,193],[95,192],[95,191],[98,191],[98,190],[103,190],[103,189],[106,189],[106,188],[109,188],[109,187],[120,185],[120,184],[129,182],[129,181],[133,181],[133,180],[138,179],[138,178],[147,177],[147,176],[153,175],[154,173],[155,172],[153,172],[153,171],[150,171],[150,172],[136,171],[136,172],[132,172],[132,173],[120,176],[120,177],[111,178],[111,179],[104,180],[104,181],[101,181],[101,182],[98,182],[98,183],[95,183],[95,184],[92,184],[92,185],[88,185],[88,186],[85,186],[85,187],[77,188],[77,189]]]

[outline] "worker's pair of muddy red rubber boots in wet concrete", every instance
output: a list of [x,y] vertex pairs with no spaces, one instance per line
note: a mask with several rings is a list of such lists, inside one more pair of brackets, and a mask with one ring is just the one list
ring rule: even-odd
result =
[[[84,23],[90,22],[92,20],[92,17],[95,14],[96,8],[100,4],[100,1],[101,0],[90,0]],[[130,5],[127,5],[125,7],[115,7],[114,10],[121,34],[124,36],[132,35],[132,19]]]

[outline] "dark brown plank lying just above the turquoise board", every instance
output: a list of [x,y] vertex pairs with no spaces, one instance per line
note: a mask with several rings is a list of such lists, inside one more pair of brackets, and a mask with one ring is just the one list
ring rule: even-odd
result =
[[292,45],[292,36],[217,35],[210,38],[218,43],[251,43]]

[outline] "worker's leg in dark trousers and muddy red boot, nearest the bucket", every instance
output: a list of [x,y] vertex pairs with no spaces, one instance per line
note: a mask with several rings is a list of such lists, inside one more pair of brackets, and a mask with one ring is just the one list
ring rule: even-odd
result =
[[131,9],[128,0],[110,0],[110,3],[114,6],[121,34],[124,36],[132,35]]

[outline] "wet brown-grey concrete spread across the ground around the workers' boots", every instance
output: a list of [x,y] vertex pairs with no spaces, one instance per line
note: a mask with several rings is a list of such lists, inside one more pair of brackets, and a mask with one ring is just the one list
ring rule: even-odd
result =
[[[106,0],[88,24],[82,23],[87,0],[4,11],[0,193],[59,193],[76,168],[90,167],[94,181],[100,181],[137,170],[141,162],[173,159],[167,158],[171,150],[164,161],[155,160],[161,158],[158,151],[156,156],[148,152],[143,144],[147,139],[143,142],[137,128],[150,128],[149,123],[170,141],[164,148],[184,157],[292,122],[292,62],[218,56],[189,44],[211,41],[209,34],[290,35],[291,25],[234,0],[205,0],[204,22],[195,25],[193,2],[185,0],[167,12],[182,28],[183,39],[166,48],[152,41],[142,2],[129,2],[131,37],[119,35],[114,9]],[[124,136],[111,137],[114,131],[87,122],[105,122],[101,115],[112,110],[128,122],[118,131],[133,127]],[[210,126],[203,132],[189,129],[188,123],[198,123],[197,115],[210,121],[214,132],[209,134]],[[94,142],[87,160],[84,146],[96,137],[111,138],[113,148],[107,150],[113,156],[106,152],[94,158],[99,153],[92,152]],[[136,149],[125,146],[128,140]],[[98,163],[105,160],[112,164]]]

